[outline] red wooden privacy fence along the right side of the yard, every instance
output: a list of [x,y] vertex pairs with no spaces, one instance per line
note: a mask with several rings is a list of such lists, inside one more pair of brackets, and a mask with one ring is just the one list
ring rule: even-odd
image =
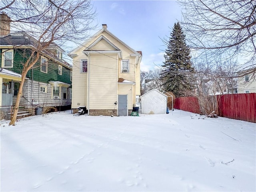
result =
[[[217,100],[220,116],[256,123],[256,93],[221,95]],[[200,113],[196,97],[176,98],[174,108]]]

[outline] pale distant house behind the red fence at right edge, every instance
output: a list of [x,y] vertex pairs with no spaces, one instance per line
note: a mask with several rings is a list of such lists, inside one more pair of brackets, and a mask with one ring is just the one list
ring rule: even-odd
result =
[[238,73],[238,93],[256,93],[256,68]]

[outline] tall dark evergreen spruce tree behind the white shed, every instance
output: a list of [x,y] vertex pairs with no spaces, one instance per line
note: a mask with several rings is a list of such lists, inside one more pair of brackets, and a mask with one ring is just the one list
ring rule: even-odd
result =
[[192,86],[192,62],[190,48],[186,45],[185,34],[179,23],[175,23],[165,50],[161,77],[165,80],[165,91],[176,97],[188,96]]

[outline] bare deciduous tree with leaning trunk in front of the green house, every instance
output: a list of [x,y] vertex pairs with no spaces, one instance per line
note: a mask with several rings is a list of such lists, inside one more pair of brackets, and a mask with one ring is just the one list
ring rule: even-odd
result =
[[[10,125],[18,113],[22,87],[28,71],[53,42],[81,42],[88,37],[95,12],[90,0],[3,0],[2,11],[11,18],[12,32],[26,32],[33,38],[30,56],[22,63],[22,81]],[[2,22],[2,21],[1,21]]]

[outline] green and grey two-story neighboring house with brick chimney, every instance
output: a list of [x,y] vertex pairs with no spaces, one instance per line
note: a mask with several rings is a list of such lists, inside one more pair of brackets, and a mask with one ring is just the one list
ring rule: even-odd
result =
[[[3,24],[0,36],[0,106],[14,106],[21,81],[23,64],[38,41],[26,32],[10,33],[10,24]],[[52,43],[26,75],[20,106],[32,114],[35,108],[71,108],[72,66],[62,59],[62,50]]]

